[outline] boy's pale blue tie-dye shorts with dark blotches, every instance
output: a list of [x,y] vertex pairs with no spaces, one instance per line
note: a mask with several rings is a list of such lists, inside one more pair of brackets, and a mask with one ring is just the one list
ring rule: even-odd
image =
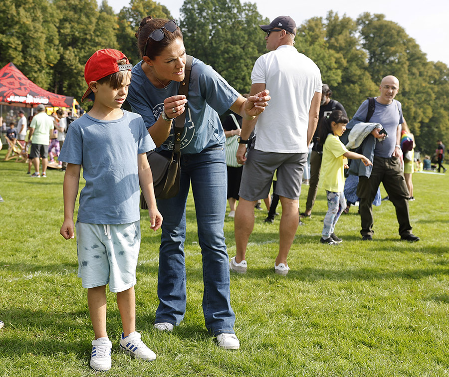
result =
[[140,250],[140,221],[102,225],[76,221],[78,277],[84,288],[109,283],[111,292],[136,284]]

